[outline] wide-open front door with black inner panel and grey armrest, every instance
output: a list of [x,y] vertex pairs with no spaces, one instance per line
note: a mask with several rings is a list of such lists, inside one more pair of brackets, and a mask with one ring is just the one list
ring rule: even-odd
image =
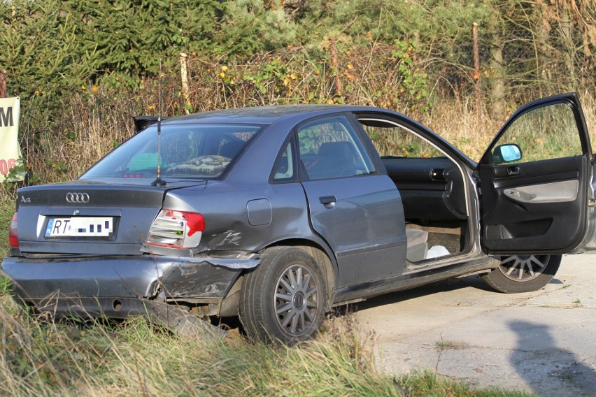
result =
[[[538,161],[492,164],[491,148],[499,143],[500,136],[516,118],[534,110],[546,113],[544,109],[548,106],[562,103],[573,111],[569,117],[574,117],[576,131],[569,131],[574,132],[577,151],[583,154],[557,157],[555,153],[550,155],[552,158]],[[567,126],[569,124],[572,122],[567,122]],[[542,127],[541,131],[558,133],[557,129],[551,130],[548,126]],[[538,143],[542,139],[541,136],[534,137]],[[535,147],[534,151],[541,154]],[[532,156],[528,157],[532,159]],[[570,252],[583,244],[588,229],[588,196],[593,195],[590,161],[587,130],[574,94],[536,101],[518,110],[478,165],[483,249],[492,254],[556,254]]]

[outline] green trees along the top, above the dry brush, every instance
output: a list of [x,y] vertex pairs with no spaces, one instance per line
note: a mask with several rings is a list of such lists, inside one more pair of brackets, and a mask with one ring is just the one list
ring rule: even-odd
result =
[[[288,2],[283,2],[284,6]],[[16,0],[2,2],[11,91],[51,98],[105,76],[136,87],[155,75],[160,59],[174,66],[180,52],[250,59],[259,52],[304,47],[304,61],[327,56],[329,38],[348,50],[370,43],[410,43],[416,66],[441,86],[471,87],[471,25],[479,25],[481,66],[502,51],[512,84],[593,82],[596,6],[588,0],[303,1],[299,13],[263,0]],[[533,48],[528,51],[528,48]],[[566,78],[558,70],[567,71]],[[499,72],[500,73],[500,72]],[[543,84],[543,85],[544,85]],[[545,85],[546,87],[546,85]],[[468,88],[469,89],[469,88]]]

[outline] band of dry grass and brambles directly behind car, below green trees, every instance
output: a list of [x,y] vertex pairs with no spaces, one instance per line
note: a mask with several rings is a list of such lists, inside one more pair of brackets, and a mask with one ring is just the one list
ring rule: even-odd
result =
[[[164,71],[161,81],[147,79],[134,89],[111,85],[73,89],[63,96],[52,121],[48,121],[47,109],[24,105],[20,135],[26,161],[40,182],[68,180],[132,136],[134,115],[161,112],[172,116],[188,110],[297,103],[350,103],[397,110],[478,160],[505,117],[495,119],[484,104],[477,120],[474,98],[459,94],[466,87],[460,91],[452,87],[449,93],[435,89],[432,105],[432,96],[422,94],[430,90],[425,84],[404,90],[400,72],[404,60],[392,57],[394,50],[391,45],[370,45],[341,52],[337,71],[325,59],[305,61],[299,48],[288,50],[283,58],[255,55],[241,64],[189,56],[187,96],[181,92],[180,71],[175,69]],[[422,66],[412,64],[406,69],[417,75]],[[585,89],[580,96],[588,127],[595,131],[595,94]],[[537,98],[528,98],[532,99]],[[512,113],[516,107],[511,99],[507,109]]]

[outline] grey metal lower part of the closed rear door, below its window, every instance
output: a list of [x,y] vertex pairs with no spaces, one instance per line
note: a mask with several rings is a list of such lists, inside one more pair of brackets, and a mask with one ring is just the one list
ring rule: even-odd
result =
[[304,181],[302,185],[313,229],[336,253],[339,287],[403,272],[404,210],[387,175]]

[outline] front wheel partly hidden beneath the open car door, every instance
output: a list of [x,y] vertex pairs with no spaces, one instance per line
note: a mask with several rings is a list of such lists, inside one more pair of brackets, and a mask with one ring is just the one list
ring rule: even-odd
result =
[[506,294],[538,291],[553,280],[561,255],[513,255],[501,257],[501,264],[481,275],[490,287]]

